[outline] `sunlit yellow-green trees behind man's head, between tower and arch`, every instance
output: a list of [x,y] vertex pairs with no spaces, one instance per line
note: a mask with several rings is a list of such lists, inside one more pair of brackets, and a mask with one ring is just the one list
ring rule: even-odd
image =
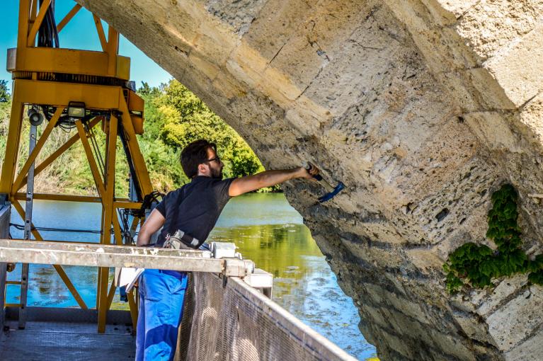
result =
[[178,156],[183,147],[197,139],[217,144],[225,177],[264,170],[244,139],[183,84],[172,80],[161,88],[151,88],[143,83],[138,93],[145,100],[140,144],[147,149],[144,156],[157,189],[172,189],[188,182]]

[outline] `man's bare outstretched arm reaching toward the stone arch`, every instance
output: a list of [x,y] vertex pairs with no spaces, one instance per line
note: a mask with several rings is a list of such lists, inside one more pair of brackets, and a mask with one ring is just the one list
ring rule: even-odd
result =
[[228,189],[228,194],[230,197],[235,197],[236,195],[242,195],[260,188],[271,187],[272,185],[280,184],[294,178],[313,179],[312,176],[317,173],[319,173],[319,169],[316,167],[311,168],[311,172],[303,167],[282,171],[263,171],[253,176],[234,179]]

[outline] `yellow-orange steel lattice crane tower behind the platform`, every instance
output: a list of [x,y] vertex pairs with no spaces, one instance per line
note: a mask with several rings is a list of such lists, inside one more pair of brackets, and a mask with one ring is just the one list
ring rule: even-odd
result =
[[[0,201],[11,202],[25,221],[24,239],[45,241],[32,224],[33,200],[58,202],[101,202],[100,243],[123,243],[128,229],[119,210],[140,210],[144,199],[152,195],[152,185],[136,134],[143,131],[144,101],[130,84],[130,59],[118,55],[119,33],[93,15],[102,51],[72,50],[59,47],[59,33],[81,10],[76,4],[58,24],[54,0],[20,0],[17,47],[8,50],[7,69],[13,77],[13,104],[8,128],[6,154],[0,176]],[[27,120],[28,118],[28,120]],[[17,169],[23,122],[30,121],[28,158]],[[101,127],[98,127],[98,126]],[[42,127],[38,138],[38,127]],[[40,164],[35,164],[47,138],[59,127],[76,130],[62,146]],[[99,128],[105,133],[105,146],[93,137]],[[135,197],[115,197],[116,144],[120,138],[129,163]],[[34,177],[52,164],[64,151],[81,142],[91,168],[98,197],[69,194],[34,193]],[[105,148],[105,149],[102,149]],[[25,192],[21,189],[25,188]],[[25,209],[18,201],[25,201]],[[130,229],[134,230],[144,215],[139,212]],[[113,237],[112,237],[113,233]],[[126,240],[125,240],[125,243]],[[61,265],[53,265],[82,309],[87,305],[69,280]],[[98,268],[96,308],[98,332],[105,330],[105,319],[115,294],[108,287],[109,268]],[[28,264],[23,265],[19,327],[25,326]],[[128,295],[132,320],[137,319],[136,300]],[[14,306],[13,304],[7,306]]]

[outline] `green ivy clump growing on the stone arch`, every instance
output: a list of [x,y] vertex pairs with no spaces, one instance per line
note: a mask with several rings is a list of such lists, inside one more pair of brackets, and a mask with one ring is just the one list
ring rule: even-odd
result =
[[543,285],[543,254],[534,260],[520,248],[521,229],[517,224],[517,192],[505,184],[492,195],[486,236],[496,243],[496,250],[476,243],[465,243],[449,255],[443,265],[447,273],[447,290],[454,294],[464,285],[483,288],[493,286],[492,279],[530,273],[528,280]]

